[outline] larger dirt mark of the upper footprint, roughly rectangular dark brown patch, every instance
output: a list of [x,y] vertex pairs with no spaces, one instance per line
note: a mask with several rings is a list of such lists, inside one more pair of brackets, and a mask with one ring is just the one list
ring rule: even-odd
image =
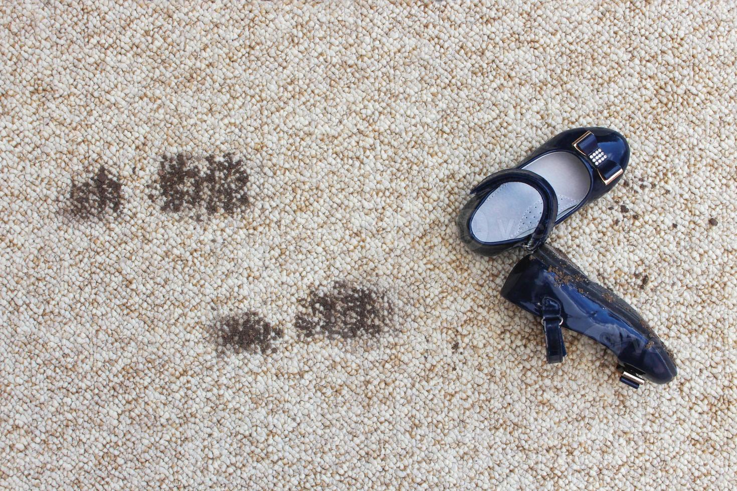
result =
[[164,155],[158,166],[161,211],[233,213],[248,207],[248,173],[233,155],[194,158],[184,153]]

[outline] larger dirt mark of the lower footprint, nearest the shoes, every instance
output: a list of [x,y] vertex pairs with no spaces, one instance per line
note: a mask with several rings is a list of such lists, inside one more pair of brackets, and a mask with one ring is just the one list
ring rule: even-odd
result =
[[395,309],[388,292],[373,285],[339,281],[313,290],[300,302],[295,327],[305,337],[317,334],[352,339],[394,330]]

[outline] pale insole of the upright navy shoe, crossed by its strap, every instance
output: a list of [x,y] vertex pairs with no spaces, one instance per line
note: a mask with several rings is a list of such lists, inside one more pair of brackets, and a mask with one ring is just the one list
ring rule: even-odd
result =
[[[589,192],[589,173],[575,155],[553,152],[536,158],[523,169],[544,177],[558,196],[558,216],[578,205]],[[535,230],[542,216],[542,198],[532,186],[505,183],[489,194],[469,225],[481,242],[519,239]]]

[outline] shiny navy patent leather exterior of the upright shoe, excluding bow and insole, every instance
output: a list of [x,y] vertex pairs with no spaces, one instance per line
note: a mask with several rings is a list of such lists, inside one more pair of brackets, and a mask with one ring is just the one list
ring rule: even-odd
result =
[[[522,163],[517,166],[517,169],[520,169],[521,167],[526,166],[528,163],[530,163],[531,160],[534,160],[541,157],[542,155],[545,155],[546,153],[551,152],[569,152],[570,154],[575,155],[576,158],[581,160],[582,163],[584,163],[584,166],[587,169],[590,177],[590,186],[586,197],[581,200],[579,205],[571,208],[562,216],[557,216],[557,213],[554,214],[552,217],[552,226],[558,225],[569,216],[573,215],[573,213],[579,211],[585,205],[600,198],[602,195],[606,194],[609,190],[616,186],[619,180],[621,180],[620,174],[619,177],[616,177],[608,184],[605,183],[598,170],[595,169],[595,167],[593,166],[593,163],[590,161],[590,159],[582,155],[581,152],[576,151],[576,148],[573,144],[579,138],[581,138],[581,135],[584,135],[584,133],[586,132],[593,133],[598,147],[608,156],[608,160],[611,163],[615,163],[618,168],[621,169],[621,172],[624,173],[624,170],[629,163],[629,144],[627,144],[626,139],[621,134],[617,133],[614,130],[609,130],[609,128],[603,127],[573,128],[572,130],[566,130],[562,133],[559,133],[550,140],[546,141],[545,144],[539,146],[536,150],[534,150],[534,152],[531,152],[529,155],[527,155]],[[481,183],[479,183],[471,190],[472,197],[471,199],[469,199],[466,205],[464,205],[464,208],[461,210],[461,213],[459,214],[457,220],[458,229],[461,233],[461,239],[464,241],[467,247],[469,247],[469,249],[473,250],[474,252],[478,252],[479,254],[487,256],[497,255],[500,252],[509,250],[511,247],[523,246],[523,244],[527,244],[528,241],[530,241],[531,239],[530,236],[526,236],[519,239],[510,239],[507,241],[489,243],[478,241],[472,236],[472,233],[470,232],[470,223],[473,218],[473,214],[481,206],[483,200],[486,199],[486,197],[488,197],[489,194],[500,185],[500,183],[496,183],[495,186],[490,186],[490,183],[495,182],[497,174],[499,173],[497,172],[496,174],[492,174],[486,177],[483,181],[481,181]],[[546,182],[542,178],[541,180]],[[537,190],[538,192],[540,192],[539,186]]]

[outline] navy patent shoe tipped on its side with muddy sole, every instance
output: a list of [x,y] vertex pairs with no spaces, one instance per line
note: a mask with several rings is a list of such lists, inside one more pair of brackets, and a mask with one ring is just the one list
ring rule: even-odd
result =
[[566,355],[565,327],[612,350],[623,370],[620,381],[635,389],[644,379],[666,384],[676,376],[671,352],[635,309],[552,247],[522,258],[501,293],[542,318],[548,363],[560,363]]

